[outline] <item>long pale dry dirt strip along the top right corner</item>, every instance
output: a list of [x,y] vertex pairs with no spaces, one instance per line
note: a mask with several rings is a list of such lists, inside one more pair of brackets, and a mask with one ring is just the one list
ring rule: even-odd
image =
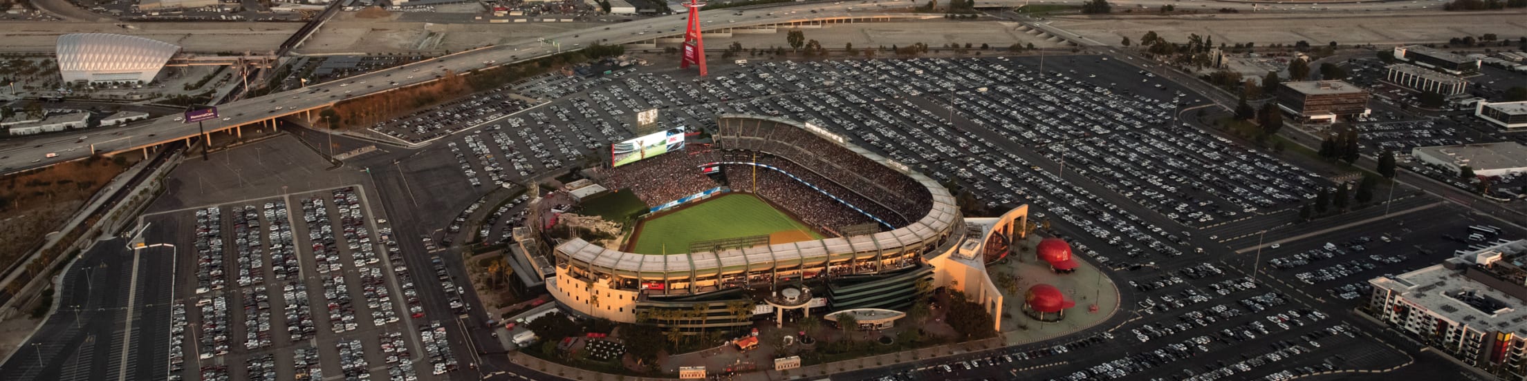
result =
[[1310,44],[1408,44],[1408,43],[1445,43],[1448,38],[1464,35],[1496,34],[1503,38],[1527,35],[1527,24],[1521,20],[1527,12],[1342,12],[1328,15],[1290,15],[1290,14],[1238,14],[1238,15],[1113,15],[1106,18],[1093,17],[1054,17],[1052,24],[1072,30],[1089,38],[1118,44],[1122,37],[1139,40],[1145,32],[1154,30],[1167,41],[1183,43],[1188,34],[1212,37],[1215,43],[1257,43],[1266,46],[1272,43],[1292,44],[1304,40]]

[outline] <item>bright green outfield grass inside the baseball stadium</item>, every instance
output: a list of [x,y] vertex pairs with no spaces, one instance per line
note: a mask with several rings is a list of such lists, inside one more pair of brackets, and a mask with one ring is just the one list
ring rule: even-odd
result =
[[789,218],[773,206],[748,194],[728,194],[702,201],[641,223],[641,232],[632,253],[661,255],[687,253],[696,241],[770,235],[783,230],[800,230],[812,239],[822,235]]

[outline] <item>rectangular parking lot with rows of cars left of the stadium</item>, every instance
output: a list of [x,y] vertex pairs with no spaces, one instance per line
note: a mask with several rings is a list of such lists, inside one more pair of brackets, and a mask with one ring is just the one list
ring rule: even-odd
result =
[[[179,250],[171,378],[435,379],[455,358],[354,186],[147,216]],[[438,334],[437,334],[438,332]],[[438,372],[437,372],[438,364]]]

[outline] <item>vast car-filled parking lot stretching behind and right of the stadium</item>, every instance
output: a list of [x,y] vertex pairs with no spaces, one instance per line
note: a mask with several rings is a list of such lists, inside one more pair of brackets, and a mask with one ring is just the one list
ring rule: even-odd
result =
[[[544,76],[513,88],[545,105],[499,119],[444,119],[457,122],[426,133],[464,131],[431,151],[449,151],[457,178],[481,187],[594,163],[606,143],[632,136],[640,110],[660,108],[660,125],[692,131],[712,131],[719,113],[789,114],[956,181],[986,201],[983,209],[1034,204],[1037,216],[1075,223],[1078,233],[1128,256],[1180,255],[1185,248],[1173,244],[1188,238],[1171,224],[1286,209],[1319,184],[1303,169],[1177,126],[1174,111],[1202,101],[1174,84],[1101,56],[1051,64],[1067,69],[1041,76],[1037,58],[933,58],[756,62],[709,79],[635,67],[599,78]],[[962,99],[953,110],[950,94]],[[446,108],[487,105],[492,96],[507,98],[493,91]],[[498,113],[489,111],[473,113]],[[379,131],[405,130],[400,122]],[[1109,140],[1128,143],[1104,148]],[[1215,149],[1190,151],[1197,146]],[[1144,172],[1151,175],[1135,175]],[[1063,180],[1077,174],[1090,181]],[[1191,189],[1200,180],[1211,183]],[[1119,190],[1165,219],[1142,218],[1083,186]]]

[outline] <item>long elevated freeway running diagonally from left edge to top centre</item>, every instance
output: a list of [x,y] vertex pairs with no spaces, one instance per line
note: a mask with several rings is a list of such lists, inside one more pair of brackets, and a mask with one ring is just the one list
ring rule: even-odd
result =
[[[855,9],[855,6],[860,9]],[[864,18],[916,20],[916,18],[941,17],[941,15],[906,14],[906,12],[887,14],[873,9],[876,6],[881,5],[872,6],[872,3],[867,2],[863,3],[840,2],[835,5],[805,3],[805,5],[788,5],[779,8],[747,9],[747,11],[716,9],[716,11],[701,12],[701,20],[705,20],[704,24],[707,29],[716,30],[728,27],[767,26],[780,23],[809,23],[809,21],[847,23]],[[742,12],[744,15],[736,15],[736,12]],[[429,82],[446,75],[447,72],[466,73],[493,66],[505,66],[505,64],[554,55],[557,52],[577,50],[594,43],[629,44],[629,43],[654,41],[655,38],[660,37],[680,37],[684,34],[684,23],[686,23],[686,15],[667,15],[667,17],[637,20],[631,23],[611,24],[606,27],[570,30],[562,34],[553,34],[544,38],[534,38],[534,40],[527,38],[508,44],[466,50],[402,67],[377,70],[341,81],[308,85],[298,90],[229,102],[217,107],[220,119],[205,122],[206,133],[211,134],[224,130],[229,130],[232,133],[232,130],[235,128],[269,122],[276,117],[307,114],[313,110],[333,105],[339,101]],[[557,46],[548,44],[547,41],[556,41]],[[0,149],[0,168],[5,168],[3,169],[5,172],[31,169],[67,160],[84,158],[95,152],[125,152],[180,139],[195,137],[199,134],[197,125],[185,123],[180,119],[182,119],[180,116],[166,116],[150,120],[142,125],[134,125],[127,130],[116,130],[115,133],[110,134],[101,134],[101,131],[87,131],[79,134],[79,136],[87,136],[84,139],[75,139],[73,136],[55,137],[50,142],[43,142],[38,145]],[[46,157],[47,154],[56,154],[56,157],[49,158]]]

